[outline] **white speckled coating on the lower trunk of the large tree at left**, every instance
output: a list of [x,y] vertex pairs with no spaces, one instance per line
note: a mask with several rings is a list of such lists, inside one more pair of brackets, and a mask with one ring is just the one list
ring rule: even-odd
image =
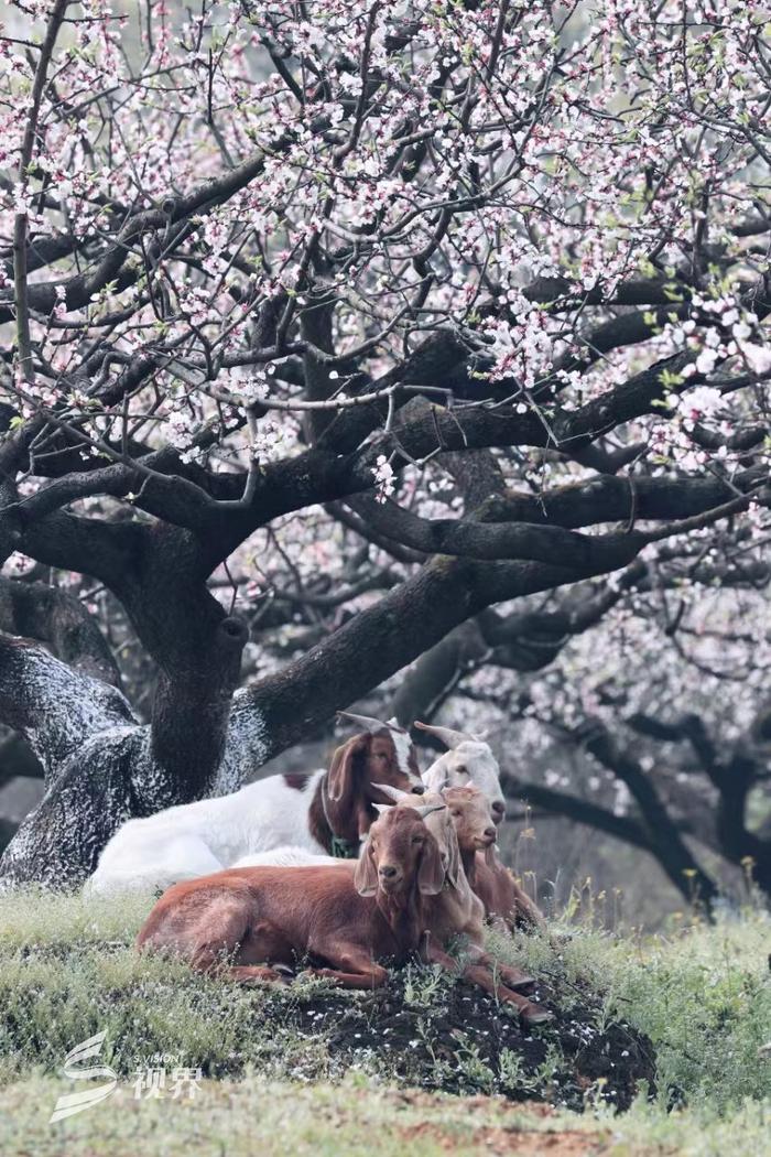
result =
[[[77,884],[127,819],[191,797],[154,757],[149,725],[136,722],[120,692],[38,647],[13,641],[7,657],[16,677],[14,725],[44,764],[46,791],[0,861],[0,885]],[[235,791],[274,753],[261,712],[237,694],[208,794]]]

